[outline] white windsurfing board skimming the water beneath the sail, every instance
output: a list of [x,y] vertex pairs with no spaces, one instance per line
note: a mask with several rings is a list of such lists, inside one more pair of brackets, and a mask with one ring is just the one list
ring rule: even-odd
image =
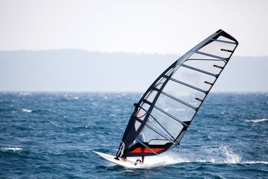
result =
[[114,159],[116,156],[113,155],[109,155],[106,153],[101,153],[101,152],[96,152],[93,151],[96,154],[100,155],[102,158],[106,159],[107,161],[114,163],[116,165],[120,165],[122,167],[126,167],[126,168],[142,168],[143,164],[141,163],[136,163],[135,161],[131,161],[129,159],[122,159],[119,158],[119,160]]

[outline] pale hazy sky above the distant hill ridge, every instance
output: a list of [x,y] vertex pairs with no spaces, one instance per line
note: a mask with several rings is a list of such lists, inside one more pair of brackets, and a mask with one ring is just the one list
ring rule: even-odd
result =
[[218,29],[268,55],[268,1],[0,1],[0,50],[184,54]]

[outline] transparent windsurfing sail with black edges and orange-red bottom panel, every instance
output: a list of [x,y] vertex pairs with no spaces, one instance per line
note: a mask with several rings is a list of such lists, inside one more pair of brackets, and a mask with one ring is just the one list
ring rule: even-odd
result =
[[157,155],[180,145],[237,46],[220,29],[170,65],[134,104],[117,158]]

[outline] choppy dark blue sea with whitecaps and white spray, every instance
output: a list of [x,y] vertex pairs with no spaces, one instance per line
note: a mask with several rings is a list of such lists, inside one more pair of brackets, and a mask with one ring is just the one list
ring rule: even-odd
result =
[[0,93],[2,178],[268,178],[268,93],[209,94],[180,147],[113,165],[137,93]]

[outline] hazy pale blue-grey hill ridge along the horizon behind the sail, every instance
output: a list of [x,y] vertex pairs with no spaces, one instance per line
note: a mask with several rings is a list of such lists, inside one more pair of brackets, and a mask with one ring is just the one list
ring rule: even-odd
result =
[[[0,91],[144,92],[181,55],[0,51]],[[268,91],[268,57],[232,57],[213,92]]]

